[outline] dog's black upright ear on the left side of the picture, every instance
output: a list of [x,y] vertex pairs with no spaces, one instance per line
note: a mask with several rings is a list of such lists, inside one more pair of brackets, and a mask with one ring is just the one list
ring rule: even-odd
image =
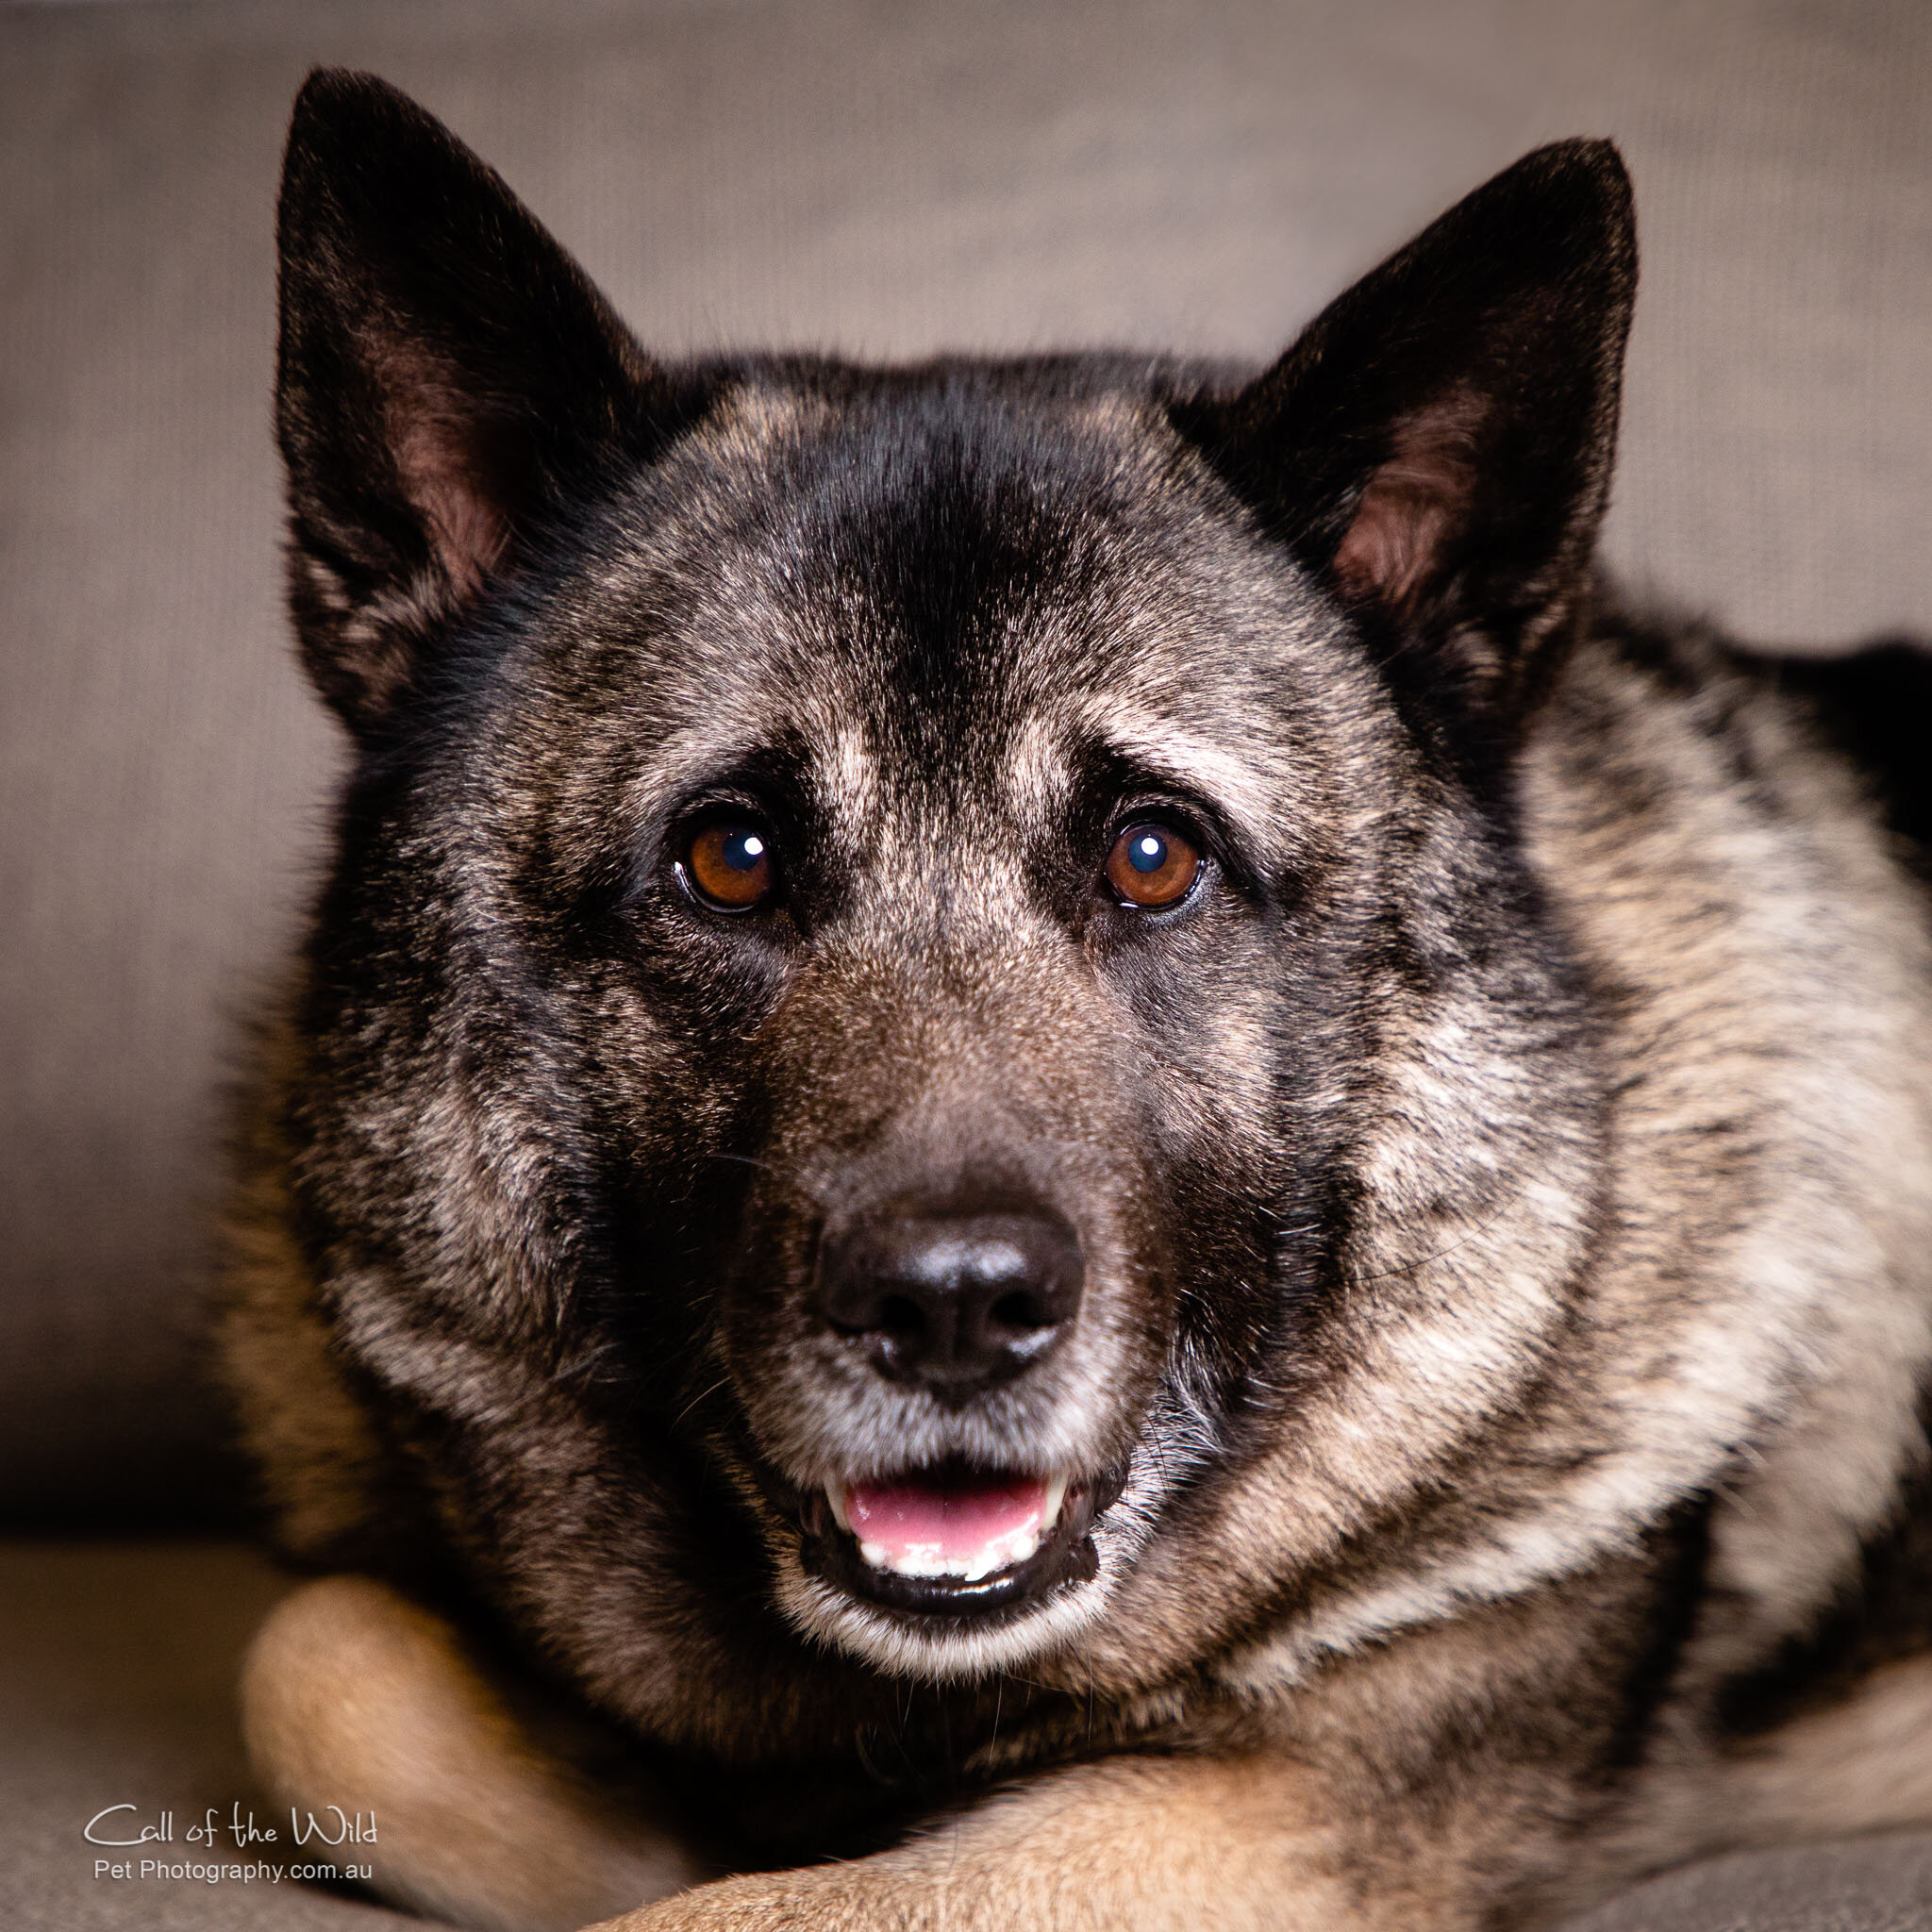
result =
[[290,603],[367,734],[425,653],[684,408],[583,270],[413,100],[319,70],[282,168]]

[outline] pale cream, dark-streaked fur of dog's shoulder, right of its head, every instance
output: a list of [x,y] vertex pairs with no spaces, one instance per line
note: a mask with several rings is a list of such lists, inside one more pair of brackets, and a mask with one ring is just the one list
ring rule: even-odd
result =
[[1671,1350],[1702,1364],[1679,1420],[1721,1424],[1706,1466],[1731,1459],[1719,1677],[1862,1596],[1926,1453],[1928,672],[1897,645],[1781,663],[1605,601],[1524,759],[1611,1095],[1596,1320],[1652,1426]]

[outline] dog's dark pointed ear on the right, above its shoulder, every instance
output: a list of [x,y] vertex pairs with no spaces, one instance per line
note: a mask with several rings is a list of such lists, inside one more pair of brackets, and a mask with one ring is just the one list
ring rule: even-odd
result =
[[1588,564],[1634,292],[1623,162],[1563,141],[1175,417],[1378,649],[1495,699]]

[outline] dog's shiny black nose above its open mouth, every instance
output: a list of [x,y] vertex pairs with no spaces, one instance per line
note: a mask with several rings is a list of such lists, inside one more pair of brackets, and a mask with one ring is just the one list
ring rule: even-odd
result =
[[879,1374],[966,1397],[1066,1339],[1080,1279],[1059,1215],[889,1213],[827,1242],[819,1312]]

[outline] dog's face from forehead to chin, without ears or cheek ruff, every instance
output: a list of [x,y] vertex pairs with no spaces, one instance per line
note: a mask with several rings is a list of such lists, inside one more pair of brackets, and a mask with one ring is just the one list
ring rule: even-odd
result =
[[755,388],[439,746],[427,838],[487,838],[450,883],[510,941],[477,968],[549,1007],[603,1169],[572,1341],[871,1656],[1090,1617],[1331,1209],[1349,800],[1401,777],[1211,502],[1146,408],[1037,373]]

